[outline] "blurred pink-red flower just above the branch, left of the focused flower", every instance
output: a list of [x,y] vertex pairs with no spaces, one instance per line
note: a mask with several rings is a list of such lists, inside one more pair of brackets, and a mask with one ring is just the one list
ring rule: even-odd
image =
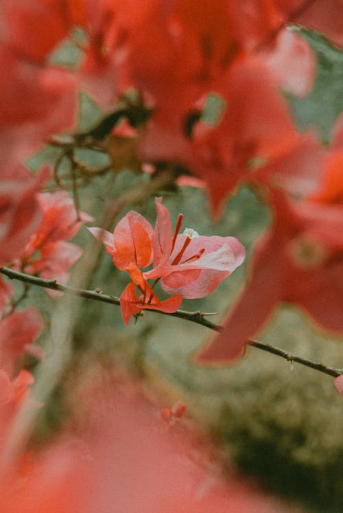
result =
[[38,202],[43,219],[21,251],[21,262],[15,263],[18,267],[23,265],[28,273],[65,283],[69,279],[67,271],[82,255],[80,247],[65,241],[93,218],[85,212],[77,214],[73,198],[64,191],[38,194]]

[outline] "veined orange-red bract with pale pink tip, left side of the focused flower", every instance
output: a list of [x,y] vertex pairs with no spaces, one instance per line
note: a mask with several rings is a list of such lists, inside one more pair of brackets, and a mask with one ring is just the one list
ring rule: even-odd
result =
[[103,242],[113,263],[121,271],[126,271],[126,267],[132,263],[138,267],[151,264],[154,230],[138,212],[134,210],[128,212],[119,221],[113,234],[101,228],[88,228],[88,230]]

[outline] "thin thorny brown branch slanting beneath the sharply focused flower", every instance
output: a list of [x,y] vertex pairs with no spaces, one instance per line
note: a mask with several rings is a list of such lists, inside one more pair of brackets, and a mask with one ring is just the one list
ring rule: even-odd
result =
[[[102,292],[97,292],[96,290],[84,290],[82,288],[61,285],[58,284],[55,280],[43,280],[43,278],[28,275],[25,273],[20,273],[19,271],[14,271],[13,269],[9,269],[8,267],[0,267],[0,273],[9,277],[11,280],[19,280],[21,282],[25,282],[28,284],[44,288],[50,288],[51,290],[59,290],[62,293],[80,296],[86,299],[93,299],[95,301],[102,301],[103,303],[119,306],[118,297],[106,295]],[[191,321],[196,324],[200,324],[201,326],[205,326],[206,328],[209,328],[210,330],[214,330],[217,332],[220,332],[223,329],[223,326],[219,326],[205,319],[206,314],[202,312],[186,312],[185,310],[177,310],[176,312],[169,314],[166,312],[161,312],[159,310],[153,311],[160,313],[162,315],[169,315],[171,317],[185,319],[186,321]],[[274,345],[270,345],[252,339],[248,339],[247,345],[252,345],[253,347],[257,347],[258,349],[261,349],[263,351],[276,354],[276,356],[281,356],[281,358],[285,358],[285,360],[287,361],[300,363],[300,365],[305,365],[306,367],[310,367],[311,369],[316,369],[319,372],[329,374],[329,376],[333,376],[334,378],[337,378],[338,376],[340,376],[340,374],[343,374],[343,369],[335,369],[333,367],[323,365],[322,363],[308,360],[307,358],[303,358],[302,356],[297,356],[296,354],[292,354],[282,349],[279,349],[279,347],[274,347]]]

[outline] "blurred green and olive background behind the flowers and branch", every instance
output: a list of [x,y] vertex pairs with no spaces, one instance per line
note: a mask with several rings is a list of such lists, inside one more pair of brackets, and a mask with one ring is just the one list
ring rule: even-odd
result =
[[[313,127],[328,142],[331,125],[343,111],[343,53],[317,34],[303,31],[302,35],[317,54],[317,79],[309,98],[288,98],[289,105],[300,128]],[[73,47],[64,47],[56,58],[72,61],[73,52]],[[101,117],[91,98],[82,95],[80,129],[93,126]],[[30,159],[29,165],[36,169],[45,161],[54,163],[57,155],[56,148],[47,147]],[[78,158],[88,166],[99,165],[99,155],[92,152],[80,152]],[[67,164],[63,173],[64,184],[71,187]],[[79,186],[80,207],[97,218],[104,190],[110,190],[115,197],[128,184],[132,187],[148,180],[148,175],[130,169],[84,180]],[[204,190],[180,187],[161,194],[173,224],[182,212],[183,229],[191,227],[202,235],[235,236],[246,247],[248,256],[270,223],[268,207],[246,187],[227,201],[226,212],[217,223],[213,223],[205,207]],[[154,225],[153,197],[133,208]],[[87,251],[91,237],[83,227],[75,242]],[[184,300],[182,309],[216,312],[209,319],[220,323],[245,279],[244,264],[209,297]],[[103,251],[88,288],[119,296],[127,283],[126,274],[117,271]],[[136,323],[132,319],[126,327],[119,308],[84,299],[75,301],[83,301],[84,305],[75,330],[73,357],[62,383],[40,415],[37,440],[49,440],[68,417],[65,387],[73,373],[81,372],[91,361],[101,365],[119,363],[163,393],[170,404],[174,400],[184,401],[187,414],[209,431],[228,466],[235,466],[268,491],[292,499],[308,511],[342,512],[343,403],[332,378],[291,365],[255,347],[248,348],[230,366],[202,367],[193,361],[193,355],[213,336],[207,328],[154,312],[145,312]],[[31,304],[48,316],[53,300],[43,290],[32,289],[27,306]],[[48,329],[46,326],[45,330]],[[43,333],[41,340],[44,338]],[[314,361],[343,367],[342,340],[316,331],[306,315],[287,305],[276,311],[258,339]]]

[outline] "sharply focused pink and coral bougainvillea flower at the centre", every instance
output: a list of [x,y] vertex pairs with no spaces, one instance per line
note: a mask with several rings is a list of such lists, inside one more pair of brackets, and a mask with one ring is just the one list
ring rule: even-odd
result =
[[[100,228],[88,228],[102,241],[115,266],[130,274],[132,283],[120,298],[125,323],[141,310],[171,313],[178,310],[182,297],[208,295],[244,260],[244,247],[234,237],[202,237],[191,229],[180,234],[182,214],[178,216],[173,234],[162,198],[156,198],[155,203],[155,229],[134,211],[119,221],[113,234]],[[150,264],[152,269],[142,273],[140,268]],[[155,280],[152,286],[147,282],[150,279]],[[163,290],[173,297],[165,301],[158,299],[153,288],[159,280]],[[135,286],[140,291],[139,296]]]

